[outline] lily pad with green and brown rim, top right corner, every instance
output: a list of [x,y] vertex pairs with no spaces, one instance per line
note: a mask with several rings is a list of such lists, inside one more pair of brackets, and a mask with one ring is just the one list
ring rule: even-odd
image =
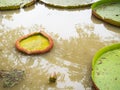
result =
[[99,19],[120,26],[120,0],[101,0],[92,5],[92,13]]

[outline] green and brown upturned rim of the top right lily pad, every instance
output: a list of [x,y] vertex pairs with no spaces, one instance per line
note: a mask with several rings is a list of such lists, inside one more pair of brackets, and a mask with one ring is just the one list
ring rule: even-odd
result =
[[118,26],[120,27],[120,22],[117,22],[117,21],[114,21],[112,19],[108,19],[108,18],[103,18],[101,17],[99,14],[96,13],[95,11],[95,8],[98,6],[98,5],[102,5],[104,3],[111,3],[111,2],[119,2],[120,3],[120,0],[100,0],[100,1],[97,1],[95,2],[94,4],[92,4],[91,8],[92,8],[92,14],[97,17],[98,19],[100,20],[103,20],[111,25],[114,25],[114,26]]

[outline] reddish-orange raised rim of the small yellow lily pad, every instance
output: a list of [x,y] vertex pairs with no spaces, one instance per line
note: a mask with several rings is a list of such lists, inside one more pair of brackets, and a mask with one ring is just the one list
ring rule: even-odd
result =
[[[29,50],[26,50],[24,49],[23,47],[20,46],[20,41],[23,40],[23,39],[26,39],[28,38],[29,36],[32,36],[32,35],[35,35],[35,34],[41,34],[42,36],[44,36],[45,38],[48,39],[49,41],[49,46],[46,47],[46,49],[44,50],[35,50],[35,51],[29,51]],[[53,48],[53,39],[48,35],[46,34],[44,31],[40,31],[40,32],[34,32],[34,33],[31,33],[31,34],[27,34],[27,35],[24,35],[23,37],[19,38],[16,43],[15,43],[15,47],[16,49],[18,49],[19,51],[23,52],[23,53],[26,53],[26,54],[43,54],[43,53],[46,53],[46,52],[49,52],[52,48]]]

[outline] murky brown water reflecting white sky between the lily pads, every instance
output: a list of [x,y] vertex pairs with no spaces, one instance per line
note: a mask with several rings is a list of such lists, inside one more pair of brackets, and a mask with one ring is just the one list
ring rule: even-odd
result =
[[[30,32],[44,30],[54,40],[42,55],[25,55],[15,41]],[[55,9],[37,4],[0,12],[0,69],[23,69],[26,77],[13,88],[0,90],[92,90],[91,61],[102,47],[120,41],[120,28],[91,15],[90,7]],[[57,72],[55,84],[50,73]]]

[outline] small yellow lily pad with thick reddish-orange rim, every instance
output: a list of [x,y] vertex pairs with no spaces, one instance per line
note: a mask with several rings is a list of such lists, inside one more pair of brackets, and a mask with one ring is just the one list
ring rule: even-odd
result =
[[16,48],[27,54],[45,53],[52,47],[52,38],[43,31],[25,35],[16,41]]

